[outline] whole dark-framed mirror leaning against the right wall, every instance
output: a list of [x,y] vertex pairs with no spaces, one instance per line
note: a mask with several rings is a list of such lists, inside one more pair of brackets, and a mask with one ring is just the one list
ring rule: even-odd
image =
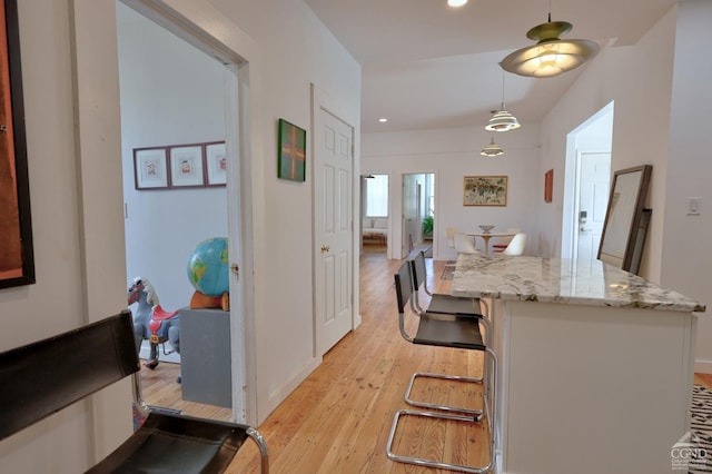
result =
[[652,169],[651,165],[643,165],[613,174],[599,247],[600,260],[635,274],[650,217],[650,213],[644,213],[643,207]]

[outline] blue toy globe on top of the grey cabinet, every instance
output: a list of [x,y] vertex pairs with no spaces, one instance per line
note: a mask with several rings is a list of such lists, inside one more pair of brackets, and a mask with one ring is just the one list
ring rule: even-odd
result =
[[200,293],[221,296],[229,292],[227,238],[202,240],[188,259],[188,279]]

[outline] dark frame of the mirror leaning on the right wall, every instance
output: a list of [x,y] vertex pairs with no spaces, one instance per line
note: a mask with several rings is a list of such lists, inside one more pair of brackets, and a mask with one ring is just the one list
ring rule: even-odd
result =
[[[647,197],[647,189],[650,187],[650,178],[652,175],[652,170],[653,170],[652,165],[642,165],[633,168],[622,169],[613,174],[613,181],[611,184],[611,194],[609,196],[609,205],[605,211],[605,221],[603,224],[603,231],[601,234],[601,244],[599,245],[597,258],[600,260],[605,261],[609,265],[613,265],[616,267],[619,267],[619,265],[614,261],[620,259],[621,264],[619,268],[624,269],[626,271],[631,270],[631,265],[633,263],[633,256],[635,254],[635,243],[639,235],[637,228],[640,227],[641,219],[643,218],[643,209],[645,206],[645,199]],[[634,206],[632,209],[632,216],[630,216],[630,218],[624,216],[624,220],[630,221],[630,227],[626,229],[625,250],[622,256],[605,253],[603,248],[606,244],[606,230],[610,230],[609,224],[611,223],[612,211],[615,210],[614,209],[615,203],[617,201],[617,199],[614,201],[614,196],[617,195],[620,198],[621,192],[634,192],[634,190],[632,189],[631,190],[623,189],[621,185],[622,180],[619,180],[619,178],[625,175],[635,175],[635,174],[639,175],[639,179],[636,181],[637,191],[634,200]],[[604,258],[601,258],[602,256]]]

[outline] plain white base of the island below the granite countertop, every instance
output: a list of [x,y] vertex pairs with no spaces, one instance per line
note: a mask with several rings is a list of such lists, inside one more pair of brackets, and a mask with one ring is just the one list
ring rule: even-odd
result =
[[502,473],[669,474],[685,434],[695,317],[501,302]]

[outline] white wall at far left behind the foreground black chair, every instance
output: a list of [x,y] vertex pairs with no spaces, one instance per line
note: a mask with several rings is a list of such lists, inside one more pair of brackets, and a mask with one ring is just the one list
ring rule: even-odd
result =
[[[17,3],[37,283],[0,290],[0,350],[126,307],[113,1]],[[3,440],[0,472],[83,472],[129,401],[126,381]]]

